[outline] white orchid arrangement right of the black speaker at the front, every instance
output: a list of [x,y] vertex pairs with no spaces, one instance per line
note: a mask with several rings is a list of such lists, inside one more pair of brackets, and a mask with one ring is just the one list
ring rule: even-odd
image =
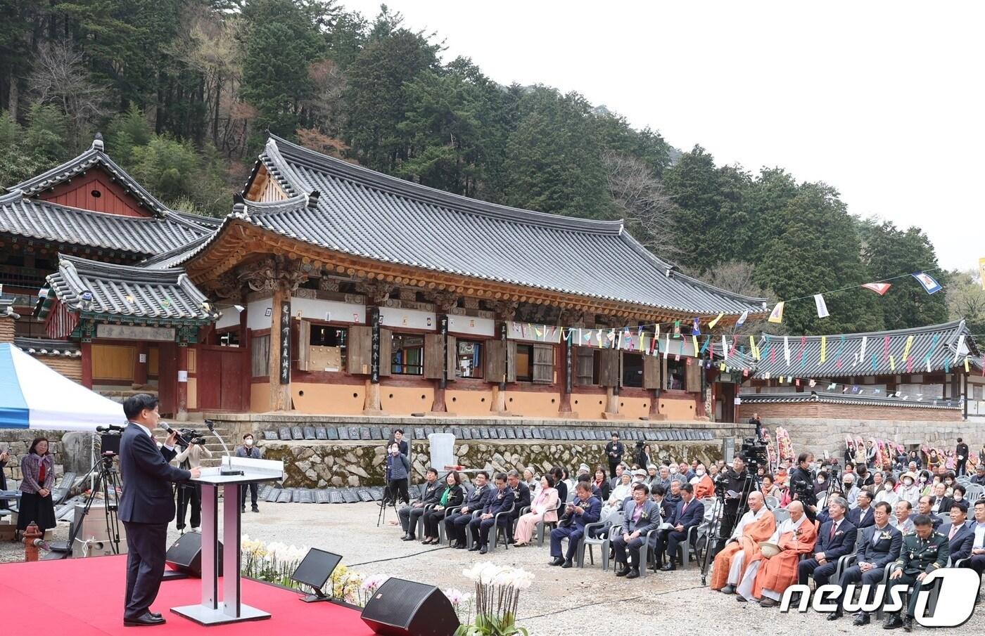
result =
[[475,583],[476,614],[475,622],[469,622],[472,608],[469,604],[466,621],[455,631],[455,636],[529,636],[526,628],[516,625],[516,610],[520,591],[529,588],[534,580],[531,572],[484,561],[463,570],[462,574]]

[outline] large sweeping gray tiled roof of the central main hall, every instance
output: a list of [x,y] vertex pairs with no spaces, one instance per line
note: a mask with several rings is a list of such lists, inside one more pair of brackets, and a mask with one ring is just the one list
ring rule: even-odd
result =
[[[260,156],[292,196],[247,217],[271,231],[377,261],[696,315],[763,311],[700,283],[622,222],[559,217],[461,197],[272,137]],[[298,197],[306,196],[302,205]],[[222,231],[222,230],[220,230]]]

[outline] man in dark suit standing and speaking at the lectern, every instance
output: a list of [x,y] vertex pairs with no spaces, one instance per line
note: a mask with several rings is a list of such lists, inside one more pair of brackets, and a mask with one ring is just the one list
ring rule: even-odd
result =
[[123,403],[123,413],[130,422],[120,439],[123,493],[118,514],[128,547],[123,624],[161,625],[164,618],[150,609],[164,576],[167,524],[174,519],[171,482],[197,478],[201,470],[185,471],[168,464],[177,454],[177,432],[158,448],[151,432],[161,418],[157,398],[145,393],[131,396]]

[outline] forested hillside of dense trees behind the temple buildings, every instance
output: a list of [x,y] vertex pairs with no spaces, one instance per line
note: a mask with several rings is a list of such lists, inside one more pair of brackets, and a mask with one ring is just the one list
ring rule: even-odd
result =
[[[269,130],[465,196],[624,219],[684,271],[774,299],[938,267],[919,228],[853,217],[832,185],[718,165],[581,95],[499,84],[508,78],[443,59],[440,33],[411,31],[385,7],[361,16],[334,0],[0,0],[0,15],[0,185],[78,154],[101,131],[164,201],[223,216]],[[782,329],[948,319],[944,293],[894,283],[884,297],[827,295],[825,319],[812,301],[791,303]]]

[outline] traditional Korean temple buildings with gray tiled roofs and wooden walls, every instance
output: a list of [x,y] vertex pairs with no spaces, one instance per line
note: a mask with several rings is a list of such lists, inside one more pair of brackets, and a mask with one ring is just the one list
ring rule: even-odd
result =
[[[763,298],[682,274],[621,222],[468,199],[277,137],[223,220],[168,209],[98,138],[0,195],[0,250],[16,344],[107,395],[157,392],[163,413],[731,422],[813,390],[782,386],[775,352],[722,349]],[[980,355],[962,329],[927,328],[931,372],[810,375],[939,385],[940,405],[907,409],[952,416],[967,374],[944,360]],[[909,334],[849,336],[886,335]]]

